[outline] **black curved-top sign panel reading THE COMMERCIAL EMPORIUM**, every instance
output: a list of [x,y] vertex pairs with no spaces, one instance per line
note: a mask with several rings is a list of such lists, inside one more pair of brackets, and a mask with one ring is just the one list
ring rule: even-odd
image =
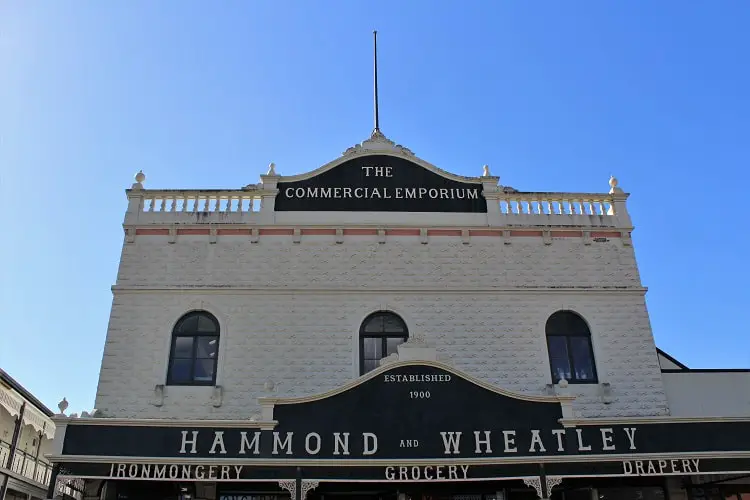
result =
[[279,182],[276,210],[486,213],[481,183],[459,182],[404,158],[353,158],[310,179]]

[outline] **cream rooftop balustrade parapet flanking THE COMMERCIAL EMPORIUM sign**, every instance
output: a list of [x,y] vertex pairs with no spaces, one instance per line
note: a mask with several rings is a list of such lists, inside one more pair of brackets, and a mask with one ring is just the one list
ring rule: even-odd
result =
[[[632,228],[628,195],[610,179],[608,193],[522,192],[484,183],[487,213],[276,212],[278,176],[242,189],[144,189],[139,173],[127,191],[125,225],[386,225],[421,227],[608,227]],[[493,178],[496,179],[496,178]]]

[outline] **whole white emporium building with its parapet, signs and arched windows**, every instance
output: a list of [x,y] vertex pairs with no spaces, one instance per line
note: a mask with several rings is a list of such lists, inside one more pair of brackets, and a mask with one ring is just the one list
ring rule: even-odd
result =
[[56,418],[55,477],[102,499],[750,498],[750,373],[657,350],[618,181],[479,170],[376,128],[241,189],[139,173],[97,410]]

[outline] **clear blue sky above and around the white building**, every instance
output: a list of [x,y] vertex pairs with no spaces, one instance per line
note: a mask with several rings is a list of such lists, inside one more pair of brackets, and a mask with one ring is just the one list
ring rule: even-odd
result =
[[0,2],[0,366],[90,409],[124,189],[235,188],[381,128],[520,190],[631,192],[660,347],[750,367],[750,2]]

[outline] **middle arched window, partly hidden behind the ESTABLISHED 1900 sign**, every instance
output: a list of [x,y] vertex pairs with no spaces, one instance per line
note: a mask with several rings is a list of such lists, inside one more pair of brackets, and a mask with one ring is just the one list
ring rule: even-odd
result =
[[359,329],[360,374],[377,368],[381,359],[396,352],[408,338],[409,330],[400,316],[389,311],[369,315]]

